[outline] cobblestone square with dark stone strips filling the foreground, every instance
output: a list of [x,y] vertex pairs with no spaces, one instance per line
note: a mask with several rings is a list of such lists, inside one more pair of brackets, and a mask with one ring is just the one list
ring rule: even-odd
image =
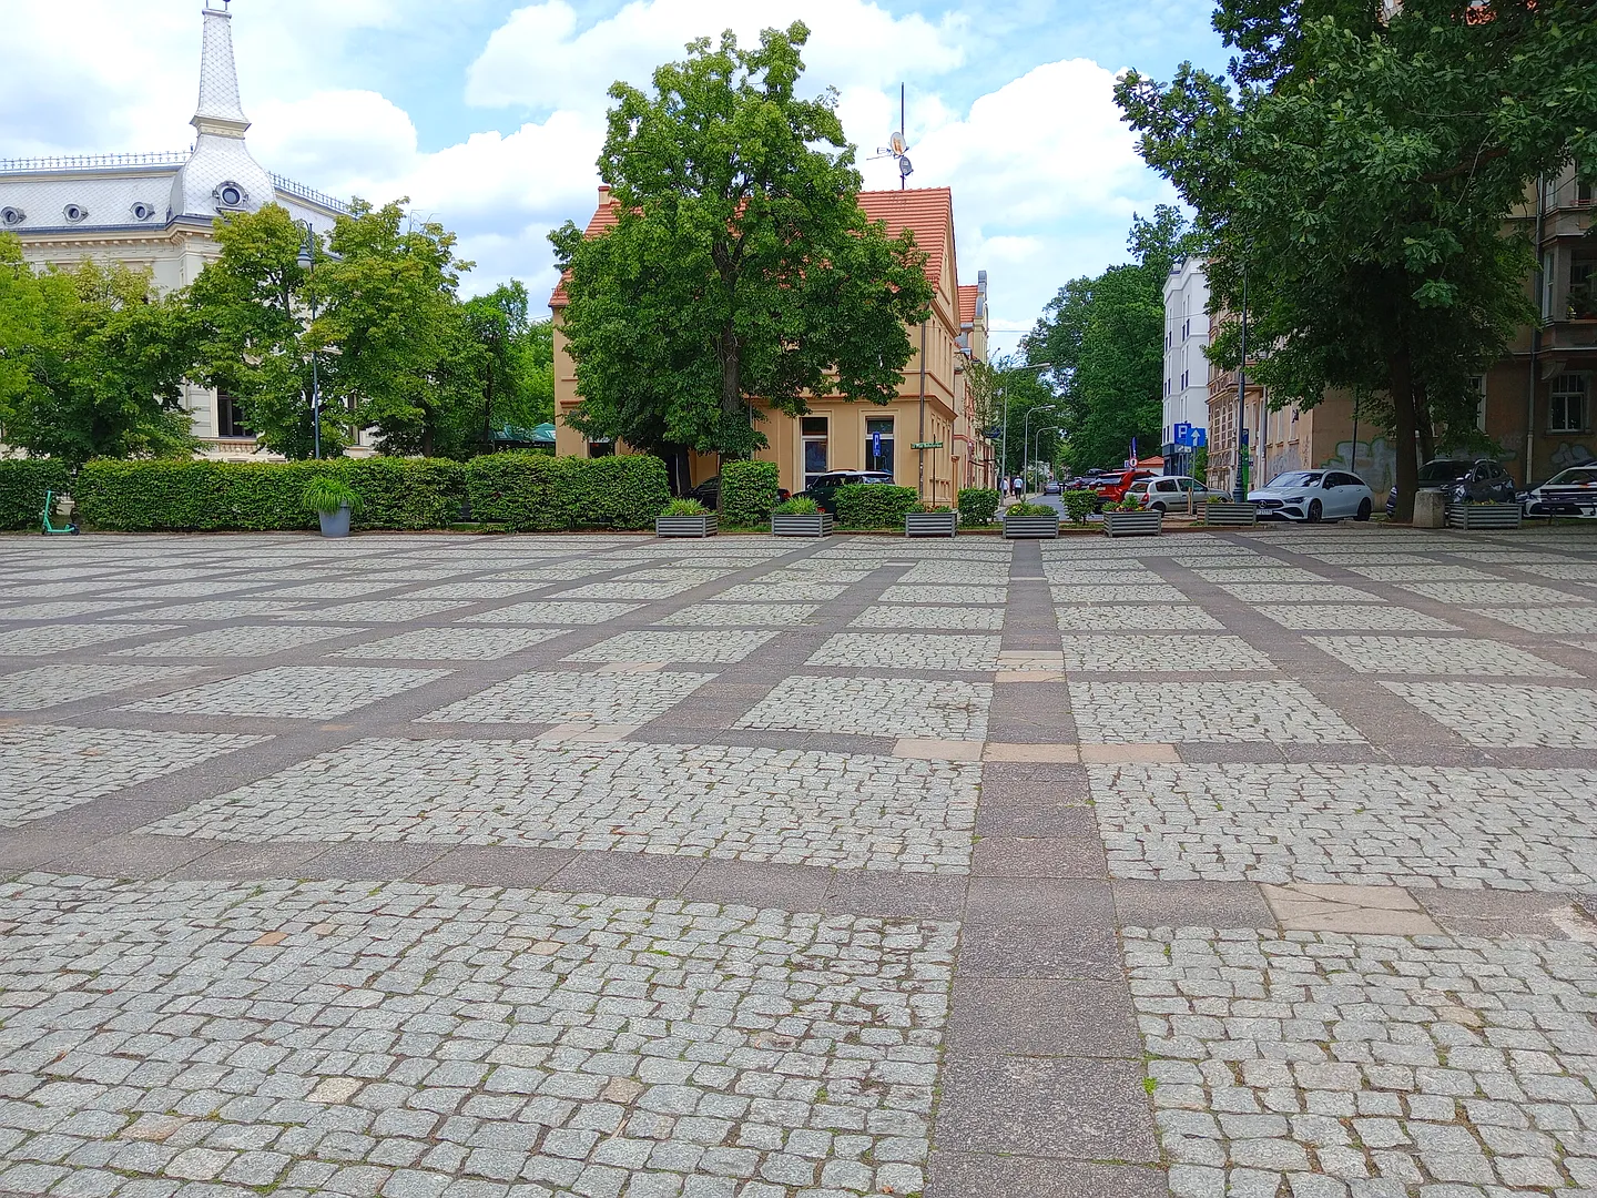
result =
[[0,1198],[1597,1193],[1594,534],[0,538]]

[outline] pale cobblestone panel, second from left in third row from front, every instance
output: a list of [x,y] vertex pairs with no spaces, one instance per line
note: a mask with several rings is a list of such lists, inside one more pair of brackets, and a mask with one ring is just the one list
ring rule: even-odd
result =
[[[110,666],[107,666],[110,668]],[[144,666],[117,666],[142,669]],[[264,716],[318,720],[426,685],[447,669],[371,669],[363,666],[276,666],[257,674],[208,682],[128,704],[128,711],[174,716]]]

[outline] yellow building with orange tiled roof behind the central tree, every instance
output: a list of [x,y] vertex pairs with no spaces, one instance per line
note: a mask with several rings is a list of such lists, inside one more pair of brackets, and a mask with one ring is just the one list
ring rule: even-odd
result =
[[[890,236],[909,228],[926,252],[933,284],[931,315],[909,329],[913,356],[904,367],[898,399],[888,404],[816,399],[808,415],[767,412],[762,431],[770,444],[757,454],[778,466],[778,486],[803,490],[811,479],[835,470],[888,470],[904,487],[915,487],[926,503],[952,503],[960,487],[990,486],[992,446],[973,425],[965,388],[965,366],[973,353],[985,355],[985,273],[969,288],[961,311],[958,257],[953,241],[953,193],[947,187],[902,192],[861,192],[859,206],[886,225]],[[610,188],[599,188],[599,206],[588,236],[615,224]],[[554,423],[556,454],[602,457],[610,442],[588,441],[565,422],[581,401],[577,367],[565,348],[561,321],[565,292],[549,299],[554,313]],[[921,446],[917,449],[917,446]],[[620,447],[626,452],[626,447]],[[680,450],[666,462],[674,490],[688,490],[719,471],[714,454]],[[982,473],[985,471],[985,473]]]

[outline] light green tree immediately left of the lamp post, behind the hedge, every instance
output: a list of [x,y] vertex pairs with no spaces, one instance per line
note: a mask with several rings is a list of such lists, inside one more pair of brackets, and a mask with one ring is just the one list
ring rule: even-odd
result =
[[[315,267],[300,267],[305,230],[287,209],[219,217],[220,256],[190,284],[187,303],[196,329],[196,372],[208,387],[236,396],[244,420],[264,446],[286,457],[313,452],[311,351],[321,356],[321,452],[348,444],[347,395],[326,348],[326,318],[310,326],[311,275],[327,256],[311,238]],[[323,280],[318,280],[321,284]]]

